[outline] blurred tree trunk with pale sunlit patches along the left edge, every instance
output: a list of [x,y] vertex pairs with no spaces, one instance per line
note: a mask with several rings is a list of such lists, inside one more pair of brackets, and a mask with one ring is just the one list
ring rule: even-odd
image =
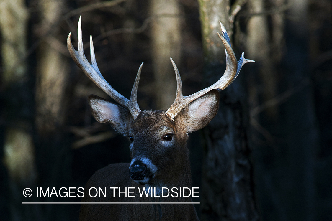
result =
[[[32,128],[32,91],[29,81],[25,53],[27,50],[27,23],[29,19],[25,1],[3,0],[0,2],[0,28],[2,34],[1,89],[4,91],[4,144],[3,163],[7,176],[4,183],[9,186],[7,193],[9,217],[2,219],[33,220],[36,206],[23,206],[24,188],[36,185],[37,171],[35,145],[31,135]],[[2,153],[2,151],[1,151]],[[2,155],[2,154],[1,154]],[[3,190],[3,184],[0,188]],[[5,192],[5,191],[3,191]],[[2,197],[1,197],[2,198]],[[30,211],[31,210],[31,211]],[[26,217],[29,217],[27,219]]]

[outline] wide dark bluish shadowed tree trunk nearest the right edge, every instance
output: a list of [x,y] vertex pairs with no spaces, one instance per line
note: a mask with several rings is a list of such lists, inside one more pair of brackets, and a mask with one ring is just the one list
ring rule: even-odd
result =
[[[295,0],[290,15],[296,20],[288,21],[288,56],[285,85],[298,85],[310,78],[308,68],[308,2]],[[295,61],[295,62],[294,62]],[[299,93],[295,93],[285,104],[287,146],[289,168],[285,174],[290,182],[289,198],[286,205],[289,220],[316,220],[314,160],[318,149],[318,128],[315,113],[314,93],[308,84]]]

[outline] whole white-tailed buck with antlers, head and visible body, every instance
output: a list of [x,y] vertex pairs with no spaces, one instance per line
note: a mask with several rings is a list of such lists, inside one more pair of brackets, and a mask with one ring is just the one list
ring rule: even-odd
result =
[[[171,59],[177,80],[174,103],[167,111],[141,111],[136,94],[143,63],[138,69],[128,100],[102,77],[96,63],[91,36],[92,64],[90,65],[86,59],[80,17],[78,51],[72,46],[71,33],[67,39],[68,50],[82,71],[120,104],[114,104],[96,95],[88,96],[95,119],[101,123],[111,124],[117,132],[129,139],[131,157],[130,163],[110,164],[90,178],[82,200],[89,203],[82,204],[80,220],[198,220],[191,197],[183,197],[184,191],[186,190],[185,194],[188,195],[191,187],[189,150],[186,146],[188,134],[205,127],[213,119],[219,105],[218,90],[233,82],[243,64],[254,62],[245,59],[243,53],[240,60],[236,60],[226,29],[221,23],[220,26],[222,32],[218,35],[225,46],[227,67],[219,81],[190,96],[183,96],[180,74]],[[101,188],[104,193],[106,190],[106,197],[103,193],[91,197],[90,188],[90,194],[96,194],[93,187],[97,190]],[[141,194],[143,187],[145,191],[150,191],[148,195]],[[161,197],[167,194],[167,197]]]

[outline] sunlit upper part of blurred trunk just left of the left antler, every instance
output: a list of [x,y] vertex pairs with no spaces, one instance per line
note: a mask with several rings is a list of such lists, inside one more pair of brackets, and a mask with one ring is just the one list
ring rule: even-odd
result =
[[[40,1],[41,32],[59,20],[63,1]],[[56,28],[58,29],[58,27]],[[57,34],[59,30],[53,30]],[[36,85],[36,126],[40,135],[52,134],[64,124],[65,96],[68,78],[68,60],[56,48],[48,44],[49,37],[41,42],[38,50]]]

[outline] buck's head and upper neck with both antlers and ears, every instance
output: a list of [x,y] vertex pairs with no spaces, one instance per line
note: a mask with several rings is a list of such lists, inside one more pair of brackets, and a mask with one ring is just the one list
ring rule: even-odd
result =
[[238,76],[247,62],[243,53],[237,61],[226,29],[220,23],[218,35],[225,46],[226,70],[213,85],[190,96],[183,96],[179,71],[171,59],[176,79],[177,92],[174,103],[166,111],[141,111],[137,104],[137,87],[142,65],[139,67],[130,99],[119,94],[101,75],[94,54],[90,36],[91,63],[83,52],[81,17],[78,22],[78,51],[68,35],[67,46],[71,57],[82,71],[120,105],[96,95],[89,95],[88,101],[94,118],[101,123],[109,123],[129,139],[131,179],[140,185],[190,186],[190,164],[186,140],[188,134],[205,127],[216,115],[219,92]]

